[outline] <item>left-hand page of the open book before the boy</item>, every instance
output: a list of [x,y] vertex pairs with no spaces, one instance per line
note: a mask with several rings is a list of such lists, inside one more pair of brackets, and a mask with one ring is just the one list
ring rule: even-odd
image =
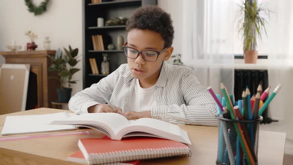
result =
[[104,132],[110,135],[111,139],[117,140],[116,134],[130,123],[119,113],[86,113],[72,116],[64,120],[55,120],[52,124],[73,124]]

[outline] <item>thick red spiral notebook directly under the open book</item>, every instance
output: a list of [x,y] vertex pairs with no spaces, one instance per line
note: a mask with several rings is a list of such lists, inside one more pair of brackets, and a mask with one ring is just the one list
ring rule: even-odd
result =
[[191,156],[183,143],[152,137],[79,139],[78,147],[88,165]]

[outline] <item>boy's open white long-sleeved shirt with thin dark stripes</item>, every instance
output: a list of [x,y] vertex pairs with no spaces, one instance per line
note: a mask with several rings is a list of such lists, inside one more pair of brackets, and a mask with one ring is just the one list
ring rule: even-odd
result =
[[[106,103],[97,86],[113,105],[120,107],[123,112],[127,111],[135,86],[135,79],[127,64],[121,65],[98,83],[77,92],[69,101],[69,109],[82,114],[88,113],[87,108],[92,105]],[[152,118],[175,124],[218,125],[216,103],[192,69],[163,62],[154,87]]]

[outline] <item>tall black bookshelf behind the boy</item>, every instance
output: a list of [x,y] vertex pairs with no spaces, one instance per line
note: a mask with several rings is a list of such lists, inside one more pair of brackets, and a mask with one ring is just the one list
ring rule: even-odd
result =
[[[145,5],[155,5],[157,0],[101,0],[101,3],[92,3],[92,0],[82,1],[82,21],[83,21],[83,88],[89,87],[93,83],[98,83],[107,75],[93,74],[89,59],[96,60],[97,68],[101,71],[103,54],[108,54],[110,62],[110,73],[115,71],[121,64],[127,63],[127,57],[123,50],[117,50],[117,37],[122,35],[124,42],[127,41],[126,25],[117,26],[97,26],[97,18],[106,20],[115,17],[130,18],[131,14],[138,7]],[[94,49],[92,36],[102,35],[104,50]],[[108,44],[114,44],[115,50],[108,50]]]

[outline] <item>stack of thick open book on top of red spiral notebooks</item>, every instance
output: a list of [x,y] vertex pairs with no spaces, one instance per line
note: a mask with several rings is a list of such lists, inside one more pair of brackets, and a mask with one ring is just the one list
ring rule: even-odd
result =
[[51,124],[84,126],[107,135],[102,139],[79,139],[82,157],[75,153],[68,158],[70,161],[84,158],[93,165],[191,155],[186,131],[152,118],[129,121],[118,113],[88,113]]

